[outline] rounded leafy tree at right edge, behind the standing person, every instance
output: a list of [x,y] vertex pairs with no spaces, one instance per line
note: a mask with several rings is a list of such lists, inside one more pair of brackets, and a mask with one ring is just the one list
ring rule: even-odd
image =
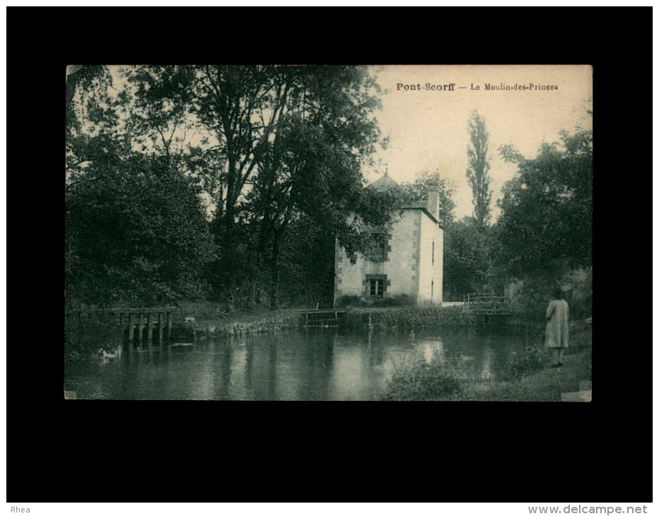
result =
[[561,141],[543,143],[535,158],[512,146],[501,156],[517,163],[518,175],[503,187],[497,221],[499,261],[511,274],[560,274],[591,265],[593,132],[561,132]]

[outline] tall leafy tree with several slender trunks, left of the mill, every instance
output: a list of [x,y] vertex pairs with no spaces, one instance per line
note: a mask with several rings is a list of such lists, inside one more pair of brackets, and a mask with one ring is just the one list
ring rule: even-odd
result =
[[374,214],[363,202],[361,165],[379,141],[371,114],[380,103],[366,67],[194,70],[192,111],[223,160],[214,192],[221,283],[233,283],[242,213],[257,228],[257,256],[269,255],[273,276],[281,238],[296,213],[332,221],[328,230],[351,249],[358,225],[343,221],[349,213]]

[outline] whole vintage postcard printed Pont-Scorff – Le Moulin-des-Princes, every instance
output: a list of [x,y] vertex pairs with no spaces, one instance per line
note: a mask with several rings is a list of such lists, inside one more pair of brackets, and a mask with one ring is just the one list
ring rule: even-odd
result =
[[62,78],[67,403],[592,400],[591,66]]

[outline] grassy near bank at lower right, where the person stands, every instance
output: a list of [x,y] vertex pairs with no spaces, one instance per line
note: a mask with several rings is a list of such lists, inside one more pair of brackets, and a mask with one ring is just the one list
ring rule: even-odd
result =
[[[571,326],[571,347],[561,368],[544,360],[523,375],[472,378],[459,360],[409,360],[390,380],[385,401],[561,401],[561,394],[584,390],[592,380],[592,334],[583,321]],[[590,390],[590,387],[588,387]]]

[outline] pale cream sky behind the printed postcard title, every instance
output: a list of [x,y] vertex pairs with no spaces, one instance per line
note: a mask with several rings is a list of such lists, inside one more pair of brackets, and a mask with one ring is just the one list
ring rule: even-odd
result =
[[[375,168],[364,170],[368,182],[382,177],[385,168],[397,182],[413,182],[424,172],[438,170],[453,180],[456,218],[472,215],[472,191],[467,182],[467,120],[472,110],[484,117],[489,131],[493,215],[501,187],[511,180],[515,165],[504,163],[498,147],[513,143],[527,158],[542,142],[559,141],[559,131],[592,127],[590,66],[373,66],[383,88],[383,109],[375,114],[390,144],[380,150]],[[454,83],[452,90],[443,88]],[[554,90],[486,90],[492,86],[557,86]],[[421,85],[421,90],[411,85]],[[426,84],[441,90],[423,89]],[[402,86],[399,86],[402,85]],[[405,85],[408,86],[407,90]],[[473,88],[472,89],[472,85]],[[480,89],[475,89],[479,86]],[[462,88],[460,88],[462,87]]]

